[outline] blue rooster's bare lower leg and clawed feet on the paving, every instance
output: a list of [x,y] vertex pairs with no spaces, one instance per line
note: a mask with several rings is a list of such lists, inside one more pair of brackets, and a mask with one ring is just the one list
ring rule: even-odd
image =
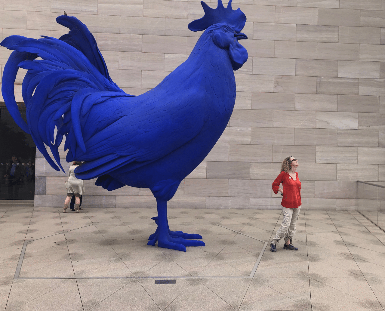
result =
[[[167,201],[156,199],[158,217],[156,223],[158,225],[157,230],[150,237],[152,239],[148,241],[147,245],[155,245],[158,242],[159,247],[176,249],[178,251],[186,251],[186,246],[204,246],[203,241],[191,241],[184,237],[177,237],[169,233],[168,222],[167,222]],[[155,220],[155,219],[154,219]],[[172,232],[172,234],[179,232]]]

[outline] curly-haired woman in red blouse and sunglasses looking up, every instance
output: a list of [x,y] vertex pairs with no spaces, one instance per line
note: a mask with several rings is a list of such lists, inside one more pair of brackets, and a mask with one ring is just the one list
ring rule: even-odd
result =
[[[301,209],[301,182],[296,169],[298,160],[292,156],[286,157],[282,162],[281,173],[275,179],[271,187],[275,194],[282,193],[283,221],[275,237],[271,240],[270,251],[276,252],[275,244],[285,237],[283,248],[297,251],[298,247],[293,246],[292,240],[295,234],[296,224]],[[280,188],[282,184],[283,189]]]

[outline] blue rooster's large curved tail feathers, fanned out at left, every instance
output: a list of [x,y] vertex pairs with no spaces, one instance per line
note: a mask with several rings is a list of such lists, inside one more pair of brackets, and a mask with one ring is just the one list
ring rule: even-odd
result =
[[[2,94],[15,122],[32,138],[49,164],[57,171],[60,164],[59,145],[63,137],[65,150],[86,151],[82,137],[82,120],[92,108],[84,100],[92,93],[108,91],[125,94],[112,82],[94,36],[77,18],[59,16],[57,22],[70,29],[60,39],[22,36],[5,38],[0,45],[15,50],[3,71]],[[35,60],[37,57],[41,59]],[[18,68],[27,69],[22,96],[27,107],[27,123],[21,117],[14,95]],[[54,137],[57,129],[56,137]],[[51,159],[49,146],[59,167]]]

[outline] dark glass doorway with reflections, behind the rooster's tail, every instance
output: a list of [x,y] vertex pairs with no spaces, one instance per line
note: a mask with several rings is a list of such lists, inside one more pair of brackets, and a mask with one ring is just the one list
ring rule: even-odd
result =
[[[19,110],[25,120],[25,107]],[[6,108],[0,109],[0,146],[0,199],[33,200],[36,147]]]

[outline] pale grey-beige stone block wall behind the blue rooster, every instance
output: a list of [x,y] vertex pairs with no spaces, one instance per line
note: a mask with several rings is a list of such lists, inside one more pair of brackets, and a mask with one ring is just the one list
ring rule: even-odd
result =
[[[249,60],[235,72],[233,115],[169,207],[278,209],[271,182],[292,155],[303,209],[355,209],[355,181],[385,181],[385,1],[234,0],[237,7],[248,18],[240,43]],[[202,17],[199,1],[0,0],[0,38],[60,37],[67,31],[55,18],[64,10],[94,33],[112,79],[134,95],[186,60],[201,34],[187,29]],[[0,48],[2,70],[9,55]],[[35,204],[62,206],[66,174],[37,152],[36,175]],[[108,192],[94,181],[85,189],[84,206],[156,206],[148,189]]]

